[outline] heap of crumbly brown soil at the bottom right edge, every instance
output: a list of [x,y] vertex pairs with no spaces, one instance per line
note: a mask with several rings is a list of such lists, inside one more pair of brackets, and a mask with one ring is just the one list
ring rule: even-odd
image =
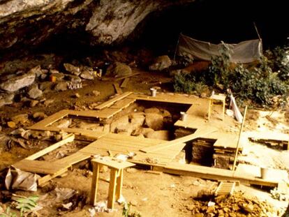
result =
[[[190,207],[193,209],[190,209]],[[193,200],[193,204],[187,205],[195,217],[205,216],[280,216],[267,202],[260,202],[244,197],[241,192],[234,195],[220,195],[209,202],[202,198]]]

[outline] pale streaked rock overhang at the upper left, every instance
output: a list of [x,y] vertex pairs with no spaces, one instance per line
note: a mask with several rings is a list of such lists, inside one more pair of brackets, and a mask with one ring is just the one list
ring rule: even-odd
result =
[[147,15],[195,0],[0,0],[0,51],[39,45],[58,33],[90,45],[127,38]]

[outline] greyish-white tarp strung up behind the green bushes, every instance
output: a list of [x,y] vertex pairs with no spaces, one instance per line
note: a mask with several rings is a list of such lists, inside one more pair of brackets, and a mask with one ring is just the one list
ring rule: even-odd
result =
[[[212,57],[219,56],[222,44],[212,44],[195,40],[183,34],[179,35],[177,54],[182,57],[193,57],[210,61]],[[259,39],[245,40],[238,44],[226,44],[232,50],[231,61],[235,63],[251,63],[262,56],[262,42]]]

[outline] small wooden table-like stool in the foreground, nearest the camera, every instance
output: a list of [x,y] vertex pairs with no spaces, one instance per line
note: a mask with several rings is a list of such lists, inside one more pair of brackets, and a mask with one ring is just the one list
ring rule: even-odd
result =
[[93,176],[91,181],[91,197],[90,203],[92,206],[96,204],[96,194],[98,188],[99,169],[101,165],[110,168],[110,187],[108,188],[108,208],[113,209],[114,201],[121,197],[122,181],[124,179],[124,168],[132,167],[135,164],[127,161],[119,162],[114,158],[96,158],[91,160],[93,167]]

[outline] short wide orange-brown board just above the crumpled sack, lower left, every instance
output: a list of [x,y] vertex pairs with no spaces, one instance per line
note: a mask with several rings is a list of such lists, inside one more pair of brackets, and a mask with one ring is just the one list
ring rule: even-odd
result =
[[54,162],[39,160],[20,160],[13,165],[14,167],[27,172],[36,172],[40,174],[55,174],[59,170],[67,169],[69,166]]

